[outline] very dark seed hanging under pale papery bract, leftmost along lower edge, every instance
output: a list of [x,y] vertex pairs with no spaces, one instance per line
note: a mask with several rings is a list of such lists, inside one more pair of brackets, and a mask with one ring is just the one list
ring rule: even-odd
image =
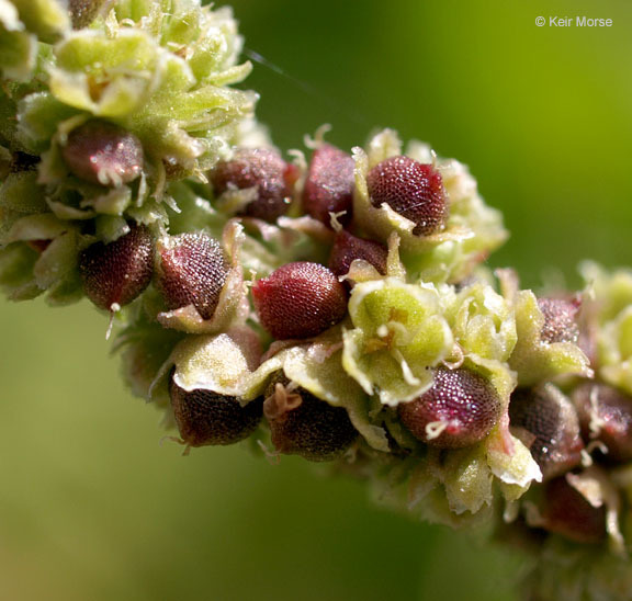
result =
[[173,416],[188,446],[233,444],[248,438],[259,426],[263,399],[245,406],[235,397],[211,390],[187,390],[173,379],[169,385]]

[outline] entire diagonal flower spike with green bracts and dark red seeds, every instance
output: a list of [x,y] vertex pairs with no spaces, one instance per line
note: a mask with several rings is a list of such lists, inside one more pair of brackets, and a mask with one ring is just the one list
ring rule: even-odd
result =
[[632,272],[520,290],[467,168],[390,129],[283,157],[240,43],[199,0],[0,0],[9,298],[109,315],[185,453],[328,462],[532,552],[531,599],[628,599]]

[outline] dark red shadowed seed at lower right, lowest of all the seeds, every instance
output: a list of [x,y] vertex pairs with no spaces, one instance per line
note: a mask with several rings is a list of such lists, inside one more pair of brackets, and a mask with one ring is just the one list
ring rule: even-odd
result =
[[576,543],[600,543],[606,538],[606,509],[592,507],[565,477],[544,485],[544,529]]

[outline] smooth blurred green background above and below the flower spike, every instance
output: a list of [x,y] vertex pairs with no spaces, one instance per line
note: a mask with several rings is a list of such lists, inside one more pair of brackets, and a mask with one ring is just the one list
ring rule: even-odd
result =
[[[328,122],[469,163],[526,286],[632,264],[632,4],[237,0],[283,148]],[[535,26],[543,15],[607,29]],[[245,450],[181,457],[123,388],[87,304],[0,302],[0,599],[517,600],[524,565],[375,507],[359,483]],[[514,592],[512,592],[514,591]]]

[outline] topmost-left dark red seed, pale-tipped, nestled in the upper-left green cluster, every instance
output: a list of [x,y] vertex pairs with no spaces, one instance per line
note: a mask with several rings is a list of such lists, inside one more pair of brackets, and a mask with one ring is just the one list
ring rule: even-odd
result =
[[61,155],[72,174],[110,186],[134,181],[144,165],[140,140],[103,121],[89,121],[72,129]]

